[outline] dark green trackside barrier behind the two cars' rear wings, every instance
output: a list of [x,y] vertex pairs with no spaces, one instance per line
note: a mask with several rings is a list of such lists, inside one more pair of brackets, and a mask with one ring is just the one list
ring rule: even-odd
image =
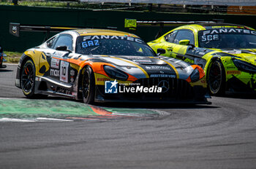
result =
[[[24,51],[29,47],[41,44],[45,34],[38,32],[21,32],[20,37],[9,34],[9,23],[22,23],[28,25],[61,25],[72,27],[117,27],[119,31],[129,31],[124,28],[125,18],[137,20],[213,20],[222,19],[226,23],[248,25],[256,28],[254,22],[256,15],[211,15],[167,12],[129,12],[129,11],[93,11],[87,9],[68,9],[53,7],[21,7],[0,6],[0,44],[4,50]],[[164,28],[164,32],[170,30]],[[146,42],[156,36],[159,28],[139,27],[137,34]],[[53,34],[52,34],[53,35]]]

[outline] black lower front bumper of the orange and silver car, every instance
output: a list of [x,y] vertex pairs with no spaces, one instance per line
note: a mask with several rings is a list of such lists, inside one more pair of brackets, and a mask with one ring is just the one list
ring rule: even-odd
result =
[[95,102],[211,104],[206,92],[205,87],[194,86],[179,87],[167,93],[105,93],[105,86],[97,85]]

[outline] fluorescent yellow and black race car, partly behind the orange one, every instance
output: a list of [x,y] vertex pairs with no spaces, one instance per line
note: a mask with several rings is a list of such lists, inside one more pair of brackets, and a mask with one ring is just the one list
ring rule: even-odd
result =
[[201,66],[211,94],[255,93],[256,31],[244,25],[183,25],[152,42],[165,56]]

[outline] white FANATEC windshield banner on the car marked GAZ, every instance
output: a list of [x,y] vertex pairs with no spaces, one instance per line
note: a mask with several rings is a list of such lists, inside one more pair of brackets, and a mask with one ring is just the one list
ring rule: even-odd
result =
[[99,41],[94,41],[97,39],[118,39],[118,40],[127,40],[127,41],[132,41],[132,42],[138,42],[140,44],[143,43],[143,41],[141,39],[138,38],[134,38],[134,37],[130,37],[130,36],[110,36],[110,35],[101,35],[101,36],[83,36],[83,41],[86,42],[86,44],[88,45],[88,42],[91,41],[91,44],[97,44],[99,43]]

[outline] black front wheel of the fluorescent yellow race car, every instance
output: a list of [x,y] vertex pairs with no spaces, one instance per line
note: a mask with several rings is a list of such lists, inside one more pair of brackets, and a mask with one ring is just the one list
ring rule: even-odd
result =
[[214,60],[208,71],[208,89],[211,95],[223,95],[225,93],[225,69],[219,60]]

